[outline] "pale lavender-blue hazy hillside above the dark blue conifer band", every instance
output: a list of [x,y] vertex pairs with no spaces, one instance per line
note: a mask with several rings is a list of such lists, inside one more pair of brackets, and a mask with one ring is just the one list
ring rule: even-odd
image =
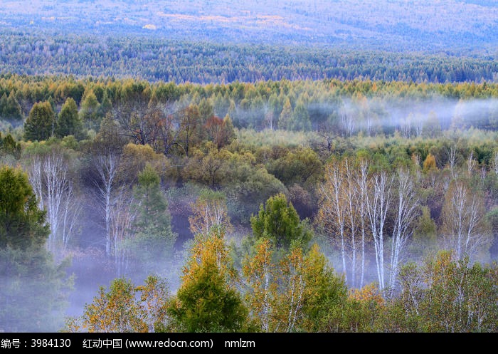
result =
[[496,51],[497,1],[6,1],[0,31]]

